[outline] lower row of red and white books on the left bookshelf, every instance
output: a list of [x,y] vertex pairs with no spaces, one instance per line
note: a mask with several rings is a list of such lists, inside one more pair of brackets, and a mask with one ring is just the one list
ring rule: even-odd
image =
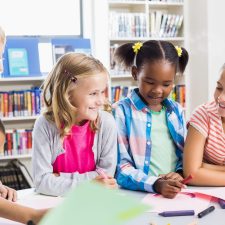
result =
[[31,149],[32,130],[7,130],[4,150],[0,151],[0,155],[8,156],[29,154],[31,153]]

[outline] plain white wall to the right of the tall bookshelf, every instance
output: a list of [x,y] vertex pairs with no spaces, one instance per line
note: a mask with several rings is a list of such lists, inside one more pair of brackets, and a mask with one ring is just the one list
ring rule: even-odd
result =
[[190,111],[213,99],[219,70],[225,62],[223,0],[188,0]]

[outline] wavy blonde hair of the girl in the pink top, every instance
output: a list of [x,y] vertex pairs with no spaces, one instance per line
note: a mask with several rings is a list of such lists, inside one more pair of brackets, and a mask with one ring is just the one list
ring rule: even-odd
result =
[[[79,77],[93,76],[105,72],[103,64],[92,56],[81,53],[67,53],[54,65],[43,86],[44,116],[56,123],[60,137],[67,135],[74,124],[76,108],[69,101],[69,86]],[[106,106],[109,107],[108,102]],[[91,121],[93,131],[97,130],[98,118]]]

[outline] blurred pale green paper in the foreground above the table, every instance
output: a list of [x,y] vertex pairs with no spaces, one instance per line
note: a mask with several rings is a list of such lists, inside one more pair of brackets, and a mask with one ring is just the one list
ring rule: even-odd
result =
[[122,225],[149,208],[119,190],[87,182],[72,190],[39,225]]

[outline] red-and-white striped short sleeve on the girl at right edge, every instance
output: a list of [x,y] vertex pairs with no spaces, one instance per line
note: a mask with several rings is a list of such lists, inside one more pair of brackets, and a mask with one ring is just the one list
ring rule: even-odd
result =
[[193,126],[196,130],[198,130],[204,137],[208,137],[208,113],[204,107],[204,105],[199,106],[194,113],[192,114],[188,125]]

